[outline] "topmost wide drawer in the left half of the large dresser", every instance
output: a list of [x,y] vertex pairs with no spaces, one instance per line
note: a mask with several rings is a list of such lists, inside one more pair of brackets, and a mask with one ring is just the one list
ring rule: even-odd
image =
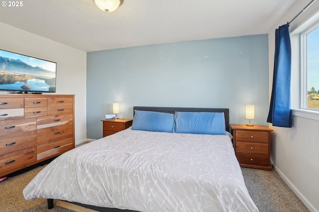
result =
[[0,121],[0,136],[36,130],[36,118]]

